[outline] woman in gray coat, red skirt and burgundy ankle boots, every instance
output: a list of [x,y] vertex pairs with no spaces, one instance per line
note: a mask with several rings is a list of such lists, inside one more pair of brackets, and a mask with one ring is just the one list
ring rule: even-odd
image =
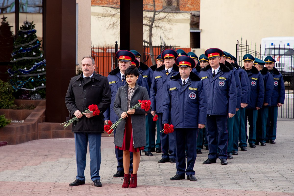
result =
[[[123,118],[116,127],[114,144],[116,148],[123,150],[123,188],[135,188],[137,186],[137,172],[140,163],[140,150],[146,145],[145,115],[148,112],[138,108],[130,110],[138,100],[149,100],[147,89],[138,86],[139,71],[135,66],[130,66],[125,71],[127,84],[118,88],[113,103],[115,113]],[[129,176],[130,152],[133,152],[133,173]]]

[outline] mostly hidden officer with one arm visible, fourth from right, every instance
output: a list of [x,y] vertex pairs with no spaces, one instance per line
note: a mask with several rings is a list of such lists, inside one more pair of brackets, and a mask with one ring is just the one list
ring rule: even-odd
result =
[[[231,55],[232,56],[232,55]],[[247,72],[242,69],[238,63],[237,59],[232,56],[231,65],[236,68],[237,73],[240,78],[241,84],[241,104],[240,109],[236,111],[234,115],[234,128],[233,128],[233,135],[234,135],[234,144],[233,144],[233,155],[238,155],[238,141],[240,140],[240,148],[241,151],[247,151],[245,147],[246,144],[246,136],[245,136],[245,108],[248,105],[247,98],[248,95],[250,96],[250,83],[247,76]]]

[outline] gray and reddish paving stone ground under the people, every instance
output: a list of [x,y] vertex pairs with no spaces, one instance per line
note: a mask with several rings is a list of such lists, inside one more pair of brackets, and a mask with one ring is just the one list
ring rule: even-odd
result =
[[141,156],[138,187],[121,188],[116,173],[113,137],[101,140],[101,182],[90,179],[89,155],[86,184],[69,187],[76,178],[73,138],[34,140],[0,147],[1,195],[294,195],[294,121],[278,120],[276,144],[257,145],[238,151],[228,165],[203,165],[208,150],[197,155],[194,170],[197,182],[171,181],[176,164],[157,163],[161,153]]

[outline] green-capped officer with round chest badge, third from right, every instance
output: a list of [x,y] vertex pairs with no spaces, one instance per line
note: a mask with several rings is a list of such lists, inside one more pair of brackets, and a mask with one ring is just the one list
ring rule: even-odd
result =
[[[254,65],[254,57],[251,54],[245,54],[243,56],[244,66],[243,69],[248,74],[250,81],[250,98],[249,104],[246,107],[246,120],[245,125],[247,125],[247,119],[249,123],[249,137],[246,133],[246,141],[248,139],[249,147],[255,148],[256,140],[256,121],[257,121],[257,110],[259,110],[263,105],[264,99],[264,83],[261,73],[256,69]],[[245,129],[247,130],[247,128]],[[247,144],[246,144],[247,146]]]

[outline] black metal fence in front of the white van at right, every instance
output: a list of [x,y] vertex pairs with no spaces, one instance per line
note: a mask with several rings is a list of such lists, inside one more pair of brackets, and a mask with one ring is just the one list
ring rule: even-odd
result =
[[283,76],[285,82],[285,102],[278,108],[278,118],[294,118],[294,44],[274,44],[262,46],[257,45],[256,42],[237,40],[236,44],[236,58],[238,64],[243,66],[243,56],[251,54],[253,57],[264,60],[266,56],[272,56],[277,68]]

